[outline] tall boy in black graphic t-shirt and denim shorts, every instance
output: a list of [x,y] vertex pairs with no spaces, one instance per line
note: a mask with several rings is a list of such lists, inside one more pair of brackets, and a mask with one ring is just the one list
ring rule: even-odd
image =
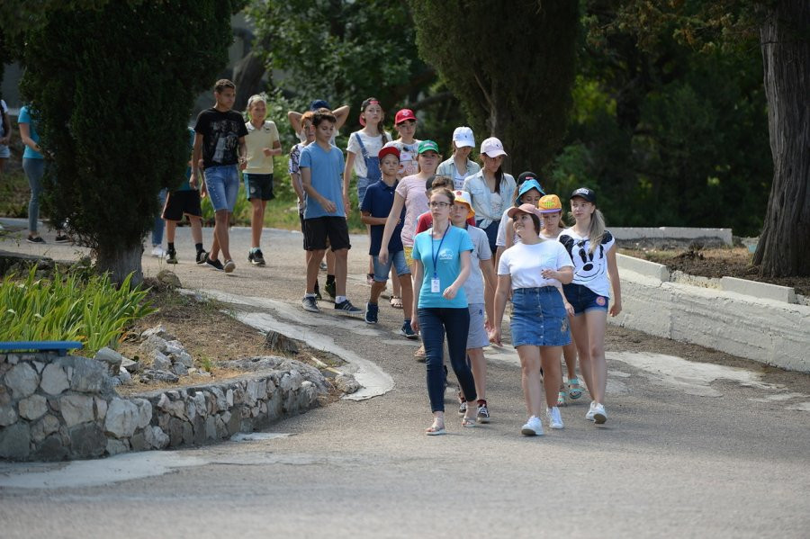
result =
[[[214,85],[214,99],[217,103],[200,112],[194,125],[192,174],[188,183],[192,189],[197,188],[202,157],[203,193],[208,192],[215,212],[214,238],[205,262],[229,274],[236,265],[230,257],[228,226],[239,192],[237,166],[244,168],[247,164],[247,128],[242,115],[231,110],[236,99],[236,86],[232,82],[224,78],[218,80]],[[225,258],[224,265],[219,260],[220,249]]]

